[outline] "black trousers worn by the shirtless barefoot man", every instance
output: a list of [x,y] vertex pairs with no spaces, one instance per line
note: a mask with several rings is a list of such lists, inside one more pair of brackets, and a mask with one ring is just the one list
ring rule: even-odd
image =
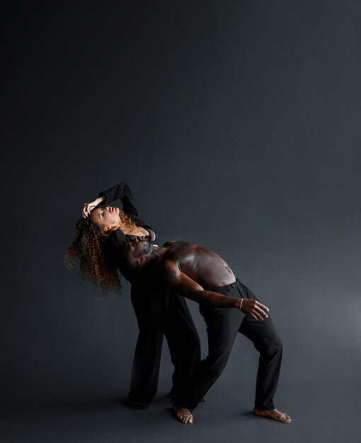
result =
[[[214,292],[243,299],[257,299],[244,284],[236,280]],[[237,309],[216,309],[200,305],[200,313],[207,324],[208,356],[202,360],[177,403],[193,410],[222,374],[237,333],[245,335],[260,353],[256,380],[255,408],[274,409],[273,396],[277,389],[282,360],[282,341],[270,317],[253,320]]]

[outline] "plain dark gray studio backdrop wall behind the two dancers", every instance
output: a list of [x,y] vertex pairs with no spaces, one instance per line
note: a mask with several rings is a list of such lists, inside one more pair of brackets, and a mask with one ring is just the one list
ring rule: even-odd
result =
[[[1,401],[127,393],[129,287],[104,297],[62,263],[81,204],[121,180],[161,241],[214,249],[270,307],[281,386],[322,384],[331,405],[342,384],[358,401],[360,13],[350,0],[9,2]],[[241,338],[222,380],[255,371]],[[164,391],[170,373],[165,352]]]

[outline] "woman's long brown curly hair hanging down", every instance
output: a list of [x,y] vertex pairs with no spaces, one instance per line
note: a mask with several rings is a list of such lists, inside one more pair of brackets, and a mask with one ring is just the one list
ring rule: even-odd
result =
[[[133,220],[130,220],[134,224]],[[111,258],[107,243],[89,218],[79,219],[76,222],[76,238],[67,248],[64,262],[69,269],[79,264],[82,280],[100,284],[104,292],[120,293],[122,284],[118,267]]]

